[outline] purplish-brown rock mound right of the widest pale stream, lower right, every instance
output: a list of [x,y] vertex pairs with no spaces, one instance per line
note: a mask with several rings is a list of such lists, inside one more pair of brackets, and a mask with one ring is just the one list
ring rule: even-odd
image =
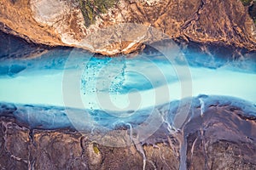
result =
[[188,169],[256,168],[256,122],[230,105],[211,107],[185,127]]

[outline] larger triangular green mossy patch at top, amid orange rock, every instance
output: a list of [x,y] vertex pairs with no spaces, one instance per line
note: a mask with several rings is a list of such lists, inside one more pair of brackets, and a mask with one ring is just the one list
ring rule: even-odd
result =
[[94,24],[98,14],[105,14],[108,8],[112,8],[119,0],[77,0],[79,8],[84,16],[85,26]]

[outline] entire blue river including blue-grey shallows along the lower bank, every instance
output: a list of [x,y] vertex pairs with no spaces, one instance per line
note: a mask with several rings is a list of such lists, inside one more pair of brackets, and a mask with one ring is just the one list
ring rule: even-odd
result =
[[[146,141],[162,125],[170,133],[181,129],[193,108],[202,116],[211,105],[233,105],[256,116],[255,53],[221,57],[170,48],[109,58],[55,48],[27,57],[42,51],[4,38],[0,32],[0,116],[31,128],[75,128],[90,132],[91,141],[123,147]],[[122,143],[119,129],[127,129],[130,142]],[[97,130],[106,136],[98,138]]]

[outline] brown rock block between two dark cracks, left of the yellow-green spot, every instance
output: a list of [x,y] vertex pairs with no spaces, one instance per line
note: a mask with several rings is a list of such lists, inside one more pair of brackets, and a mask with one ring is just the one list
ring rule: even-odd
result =
[[79,133],[34,131],[30,159],[35,169],[86,169]]

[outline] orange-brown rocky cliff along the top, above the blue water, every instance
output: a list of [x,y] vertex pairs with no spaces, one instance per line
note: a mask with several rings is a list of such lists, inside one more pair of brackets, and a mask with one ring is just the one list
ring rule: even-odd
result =
[[109,55],[131,53],[166,36],[256,50],[256,29],[241,1],[121,0],[97,14],[91,25],[82,11],[77,0],[2,0],[0,29],[29,42]]

